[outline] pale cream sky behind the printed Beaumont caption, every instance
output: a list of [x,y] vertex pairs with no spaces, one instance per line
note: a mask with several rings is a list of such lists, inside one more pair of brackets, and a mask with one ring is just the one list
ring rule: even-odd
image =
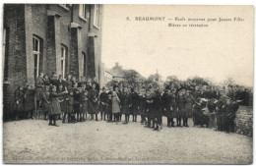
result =
[[[158,70],[163,80],[171,75],[180,80],[199,76],[216,83],[231,78],[252,86],[253,16],[250,6],[104,5],[102,63],[110,69],[118,62],[146,78]],[[147,22],[135,21],[135,17],[165,18]],[[174,22],[175,17],[186,21]],[[244,21],[188,22],[189,18]],[[204,24],[208,28],[168,24]]]

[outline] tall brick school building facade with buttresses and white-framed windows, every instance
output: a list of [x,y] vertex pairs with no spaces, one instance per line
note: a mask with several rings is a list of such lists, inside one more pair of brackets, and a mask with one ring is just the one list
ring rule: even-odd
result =
[[4,5],[4,110],[11,109],[14,90],[41,72],[100,83],[102,10],[98,4]]

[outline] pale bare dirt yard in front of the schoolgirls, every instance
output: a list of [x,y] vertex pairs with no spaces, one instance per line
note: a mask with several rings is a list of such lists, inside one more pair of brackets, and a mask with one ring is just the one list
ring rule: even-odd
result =
[[251,164],[252,138],[212,129],[87,121],[4,123],[4,163]]

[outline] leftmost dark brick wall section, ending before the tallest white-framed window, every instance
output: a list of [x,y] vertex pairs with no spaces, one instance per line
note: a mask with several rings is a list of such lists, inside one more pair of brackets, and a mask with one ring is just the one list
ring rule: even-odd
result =
[[25,5],[5,5],[4,27],[7,28],[5,50],[5,83],[3,85],[4,117],[12,114],[14,90],[27,83],[25,44]]

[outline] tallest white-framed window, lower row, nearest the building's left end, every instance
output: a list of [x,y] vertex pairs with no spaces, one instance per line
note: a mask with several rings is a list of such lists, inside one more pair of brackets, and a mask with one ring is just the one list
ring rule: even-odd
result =
[[39,59],[40,59],[40,39],[32,37],[32,55],[33,55],[33,77],[34,80],[39,76]]

